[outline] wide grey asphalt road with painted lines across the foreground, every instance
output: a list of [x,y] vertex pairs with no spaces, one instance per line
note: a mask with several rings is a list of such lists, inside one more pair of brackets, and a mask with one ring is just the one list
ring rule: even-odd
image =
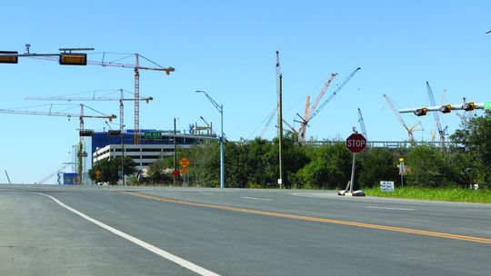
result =
[[1,275],[491,275],[485,204],[0,185],[0,219]]

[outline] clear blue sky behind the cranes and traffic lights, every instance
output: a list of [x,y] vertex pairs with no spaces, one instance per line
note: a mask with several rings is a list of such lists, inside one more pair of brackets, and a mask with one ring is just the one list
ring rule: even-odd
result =
[[[358,107],[369,140],[406,140],[382,94],[397,108],[426,105],[426,81],[436,102],[444,89],[448,104],[461,103],[464,96],[491,100],[488,1],[27,0],[7,1],[2,10],[0,50],[24,53],[26,43],[32,45],[31,53],[94,47],[95,53],[139,53],[175,67],[169,76],[141,72],[141,94],[155,98],[141,104],[141,128],[171,129],[178,117],[178,128],[187,129],[200,122],[199,116],[218,127],[219,113],[203,94],[194,93],[205,90],[224,104],[229,140],[254,138],[276,106],[276,50],[284,75],[284,118],[292,124],[296,113],[304,112],[306,95],[316,97],[329,74],[339,74],[335,87],[362,67],[311,121],[307,137],[319,140],[346,138],[358,126]],[[101,55],[89,59],[100,60]],[[131,69],[61,66],[27,58],[0,64],[0,75],[0,108],[50,104],[25,101],[26,96],[133,91],[134,86]],[[118,114],[117,102],[85,104]],[[126,125],[133,127],[133,118],[128,103]],[[417,122],[410,114],[403,118],[409,127]],[[415,137],[428,141],[435,129],[433,116],[419,120],[425,131]],[[453,133],[459,120],[450,113],[442,123]],[[276,135],[275,125],[271,123],[264,138]],[[66,161],[78,140],[76,118],[0,114],[0,127],[0,170],[13,182],[39,182]],[[101,130],[106,125],[86,119],[85,127]],[[6,182],[4,172],[0,182]]]

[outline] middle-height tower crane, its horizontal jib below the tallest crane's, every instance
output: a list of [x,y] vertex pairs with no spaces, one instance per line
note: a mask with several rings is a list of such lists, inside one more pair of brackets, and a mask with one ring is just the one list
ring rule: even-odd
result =
[[[36,100],[36,101],[65,101],[65,102],[88,102],[88,101],[119,101],[119,129],[121,133],[123,133],[124,125],[125,125],[125,104],[127,101],[135,101],[135,98],[125,98],[125,90],[119,89],[120,96],[119,98],[108,97],[108,96],[91,96],[91,97],[83,97],[83,96],[41,96],[41,97],[25,97],[25,100]],[[149,103],[154,100],[152,97],[139,97],[138,101]]]

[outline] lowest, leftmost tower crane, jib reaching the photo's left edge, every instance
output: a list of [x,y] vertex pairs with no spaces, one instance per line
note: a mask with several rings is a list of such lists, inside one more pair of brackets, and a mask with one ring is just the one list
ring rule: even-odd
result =
[[79,183],[83,184],[84,179],[83,179],[83,173],[84,173],[84,157],[86,157],[87,153],[84,151],[84,136],[87,134],[91,134],[89,131],[88,133],[85,133],[84,129],[84,118],[96,118],[96,119],[107,119],[109,122],[113,121],[113,119],[116,118],[115,115],[105,115],[103,113],[99,113],[100,115],[87,115],[84,113],[84,107],[94,111],[95,113],[99,113],[93,108],[90,108],[84,104],[80,104],[80,113],[57,113],[57,112],[40,112],[40,111],[25,111],[25,110],[18,110],[18,109],[0,109],[0,113],[12,113],[12,114],[24,114],[24,115],[40,115],[40,116],[61,116],[61,117],[78,117],[80,121],[80,142],[78,145],[78,153],[76,154],[77,160],[78,160],[78,166],[77,166],[77,172],[78,172],[78,180]]

